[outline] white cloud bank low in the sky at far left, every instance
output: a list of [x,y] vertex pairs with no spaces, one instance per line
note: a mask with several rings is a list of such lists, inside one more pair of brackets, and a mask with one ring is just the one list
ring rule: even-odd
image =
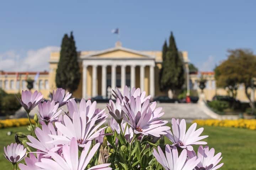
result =
[[[28,50],[24,56],[16,51],[0,53],[0,70],[4,71],[43,71],[49,69],[50,52],[60,47],[47,46],[38,50]],[[21,57],[20,57],[21,56]]]

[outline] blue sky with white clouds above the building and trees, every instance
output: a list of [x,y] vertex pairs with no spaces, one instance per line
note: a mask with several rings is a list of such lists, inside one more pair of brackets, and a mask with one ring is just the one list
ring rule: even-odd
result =
[[5,1],[0,5],[0,70],[48,69],[73,30],[78,50],[161,50],[170,31],[192,63],[210,71],[227,49],[256,52],[256,1]]

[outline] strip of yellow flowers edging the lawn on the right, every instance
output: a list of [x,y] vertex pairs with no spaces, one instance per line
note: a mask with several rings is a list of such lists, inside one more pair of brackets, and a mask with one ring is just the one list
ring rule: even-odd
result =
[[196,119],[193,123],[198,125],[207,126],[223,126],[234,128],[246,128],[250,130],[256,130],[256,119],[238,119],[238,120],[215,120],[215,119]]

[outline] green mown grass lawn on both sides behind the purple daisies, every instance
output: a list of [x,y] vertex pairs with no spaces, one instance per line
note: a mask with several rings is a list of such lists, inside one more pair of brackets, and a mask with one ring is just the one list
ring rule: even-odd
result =
[[[201,127],[201,126],[200,126]],[[209,135],[205,140],[210,148],[214,147],[215,152],[222,152],[222,170],[255,170],[256,169],[256,131],[239,129],[203,126],[203,135]],[[22,131],[27,133],[26,127],[8,128],[0,130],[0,155],[3,147],[14,142],[14,135],[7,136],[8,131]],[[167,140],[166,140],[167,141]],[[197,146],[194,146],[196,149]],[[1,170],[11,169],[11,164],[4,156],[0,156]]]

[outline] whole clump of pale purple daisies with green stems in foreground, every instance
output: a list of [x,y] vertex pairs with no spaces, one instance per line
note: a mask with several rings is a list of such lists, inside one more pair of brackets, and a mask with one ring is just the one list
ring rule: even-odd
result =
[[[162,108],[150,102],[150,96],[134,87],[123,94],[113,90],[115,100],[107,104],[112,116],[104,126],[108,113],[96,107],[96,102],[81,100],[79,106],[71,94],[57,89],[51,101],[44,101],[38,92],[23,91],[20,102],[30,113],[38,106],[39,120],[30,117],[30,135],[17,133],[26,138],[4,148],[5,158],[21,170],[216,170],[223,163],[221,153],[201,141],[203,128],[192,124],[186,130],[184,119],[161,119]],[[68,112],[62,110],[66,105]],[[164,137],[172,145],[165,145]],[[19,144],[18,144],[19,143]],[[194,146],[200,145],[198,153]],[[29,154],[27,154],[29,152]]]

